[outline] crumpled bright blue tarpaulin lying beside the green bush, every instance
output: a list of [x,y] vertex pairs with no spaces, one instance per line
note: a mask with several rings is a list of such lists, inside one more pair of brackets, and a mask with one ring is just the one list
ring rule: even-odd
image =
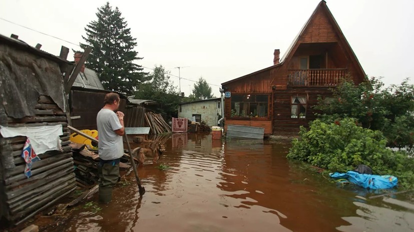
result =
[[346,179],[365,189],[390,189],[398,184],[398,179],[394,176],[360,174],[354,171],[331,173],[329,176],[334,179]]

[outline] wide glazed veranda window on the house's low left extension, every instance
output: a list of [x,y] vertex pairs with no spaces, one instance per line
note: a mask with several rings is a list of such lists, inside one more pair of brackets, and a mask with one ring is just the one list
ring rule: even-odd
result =
[[230,117],[267,117],[269,95],[233,94]]

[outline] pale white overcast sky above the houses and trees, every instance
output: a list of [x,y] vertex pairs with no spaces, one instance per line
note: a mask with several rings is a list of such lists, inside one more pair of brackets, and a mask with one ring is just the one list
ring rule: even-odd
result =
[[[0,17],[79,44],[84,27],[107,0],[0,0]],[[273,64],[286,52],[319,0],[110,0],[128,21],[140,65],[215,85]],[[414,0],[327,0],[368,76],[385,84],[414,83]],[[76,45],[0,20],[0,33],[59,55]],[[68,60],[73,60],[73,53]],[[145,69],[145,71],[151,71]],[[178,86],[178,78],[172,77]],[[186,96],[194,82],[181,80]],[[219,96],[219,87],[212,86]]]

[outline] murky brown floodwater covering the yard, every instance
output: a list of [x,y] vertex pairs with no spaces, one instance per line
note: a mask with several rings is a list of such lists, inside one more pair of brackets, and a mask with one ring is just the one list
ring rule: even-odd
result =
[[[174,134],[158,165],[133,173],[102,210],[78,207],[67,232],[414,232],[412,195],[373,195],[286,160],[288,144]],[[96,200],[96,198],[95,198]]]

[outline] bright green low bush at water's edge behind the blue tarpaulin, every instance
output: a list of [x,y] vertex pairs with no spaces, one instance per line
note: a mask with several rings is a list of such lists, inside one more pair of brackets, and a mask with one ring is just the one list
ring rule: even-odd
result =
[[332,123],[317,119],[310,123],[309,131],[301,127],[299,135],[292,142],[289,159],[308,162],[329,172],[347,172],[364,164],[374,174],[396,176],[403,188],[414,184],[414,159],[405,152],[387,148],[382,132],[362,128],[356,119],[344,118]]

